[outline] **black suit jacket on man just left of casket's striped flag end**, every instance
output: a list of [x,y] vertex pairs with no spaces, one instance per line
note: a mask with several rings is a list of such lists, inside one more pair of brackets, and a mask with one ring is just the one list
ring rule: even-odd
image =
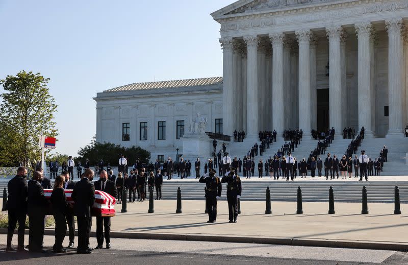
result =
[[91,217],[91,207],[95,202],[95,186],[88,178],[83,178],[75,184],[71,198],[75,202],[75,215]]

